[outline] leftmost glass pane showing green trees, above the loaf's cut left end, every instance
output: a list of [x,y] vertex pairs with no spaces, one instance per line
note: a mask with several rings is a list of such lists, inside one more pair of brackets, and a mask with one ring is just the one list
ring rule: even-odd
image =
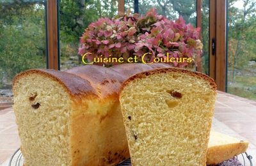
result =
[[12,79],[46,68],[44,1],[0,1],[0,106],[10,102]]

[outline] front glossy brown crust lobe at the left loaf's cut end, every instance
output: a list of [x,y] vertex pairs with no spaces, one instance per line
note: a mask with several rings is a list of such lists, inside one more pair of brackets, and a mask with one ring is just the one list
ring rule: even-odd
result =
[[95,89],[93,89],[93,87],[90,85],[90,82],[88,82],[87,80],[84,80],[81,77],[78,77],[77,75],[71,73],[60,72],[50,69],[32,69],[21,72],[14,77],[13,87],[15,87],[15,84],[19,82],[19,79],[21,77],[26,77],[27,75],[30,75],[32,73],[38,73],[40,75],[44,75],[45,77],[56,80],[67,90],[68,94],[70,94],[71,96],[97,96],[97,92],[95,91]]

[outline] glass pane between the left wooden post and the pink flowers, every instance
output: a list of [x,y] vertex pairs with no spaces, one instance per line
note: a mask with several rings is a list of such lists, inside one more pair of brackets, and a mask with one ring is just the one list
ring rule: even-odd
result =
[[100,17],[117,15],[117,5],[117,0],[60,1],[61,70],[81,64],[81,56],[77,52],[84,29]]

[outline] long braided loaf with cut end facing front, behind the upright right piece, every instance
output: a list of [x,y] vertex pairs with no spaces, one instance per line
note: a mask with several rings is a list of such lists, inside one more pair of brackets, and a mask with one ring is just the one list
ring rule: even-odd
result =
[[13,109],[26,165],[114,165],[129,158],[120,86],[168,64],[28,70],[13,79]]

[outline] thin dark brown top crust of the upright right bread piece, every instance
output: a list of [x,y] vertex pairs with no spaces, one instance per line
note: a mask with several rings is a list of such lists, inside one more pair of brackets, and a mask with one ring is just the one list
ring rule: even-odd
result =
[[138,73],[136,75],[132,75],[132,77],[125,80],[125,82],[122,84],[120,92],[132,80],[141,79],[141,78],[147,77],[148,75],[154,75],[154,74],[157,74],[157,73],[167,73],[167,72],[185,73],[185,74],[191,75],[193,77],[197,77],[199,79],[204,79],[204,80],[209,82],[210,86],[212,87],[212,89],[214,91],[216,91],[216,89],[217,89],[217,86],[216,86],[214,80],[211,77],[209,77],[209,76],[207,76],[203,73],[192,72],[191,70],[185,70],[185,69],[181,69],[181,68],[157,68],[157,69],[154,69],[154,70],[148,70],[147,72],[141,72],[141,73]]

